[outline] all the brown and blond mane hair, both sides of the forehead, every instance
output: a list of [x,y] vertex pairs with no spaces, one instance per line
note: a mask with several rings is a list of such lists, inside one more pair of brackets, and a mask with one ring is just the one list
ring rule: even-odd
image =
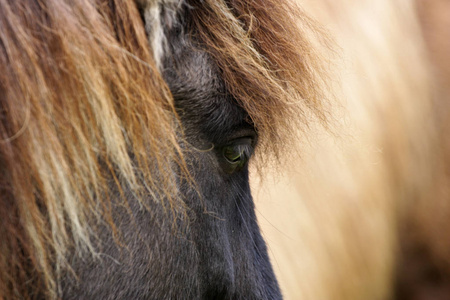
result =
[[[325,119],[318,29],[297,8],[186,4],[260,153]],[[111,186],[176,206],[183,131],[147,34],[130,1],[0,1],[0,299],[57,297],[67,251],[95,254],[92,220],[114,230]]]

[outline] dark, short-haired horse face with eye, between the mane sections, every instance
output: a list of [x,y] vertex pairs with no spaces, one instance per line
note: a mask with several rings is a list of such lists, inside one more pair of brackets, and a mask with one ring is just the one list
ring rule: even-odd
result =
[[129,193],[129,214],[117,200],[126,246],[116,245],[108,227],[99,230],[100,259],[74,258],[78,280],[64,281],[64,299],[281,298],[249,187],[257,133],[189,28],[190,9],[171,2],[142,12],[183,126],[192,176],[179,180],[186,207],[151,199],[142,209]]

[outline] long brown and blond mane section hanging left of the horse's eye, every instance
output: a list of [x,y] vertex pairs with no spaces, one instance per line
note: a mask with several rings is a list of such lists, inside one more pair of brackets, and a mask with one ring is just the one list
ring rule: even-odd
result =
[[0,7],[0,298],[53,297],[51,263],[68,245],[92,249],[89,215],[111,223],[108,181],[168,191],[174,108],[133,3]]

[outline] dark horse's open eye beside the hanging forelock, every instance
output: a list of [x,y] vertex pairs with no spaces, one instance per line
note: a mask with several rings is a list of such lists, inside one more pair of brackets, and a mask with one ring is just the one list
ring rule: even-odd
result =
[[225,158],[222,166],[226,173],[234,173],[245,166],[253,151],[252,142],[251,138],[240,138],[222,147],[222,155]]

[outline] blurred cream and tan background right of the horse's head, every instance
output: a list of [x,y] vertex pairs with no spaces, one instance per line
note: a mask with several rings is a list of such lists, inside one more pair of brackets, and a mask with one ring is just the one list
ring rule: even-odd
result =
[[252,177],[285,298],[450,299],[450,1],[297,3],[333,40],[335,100]]

